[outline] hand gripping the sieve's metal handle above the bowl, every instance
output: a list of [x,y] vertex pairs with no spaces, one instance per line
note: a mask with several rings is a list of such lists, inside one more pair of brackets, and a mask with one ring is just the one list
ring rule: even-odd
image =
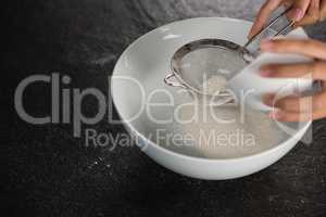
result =
[[267,0],[261,8],[248,38],[258,34],[280,5],[292,8],[287,16],[296,22],[296,26],[309,25],[326,18],[326,0]]

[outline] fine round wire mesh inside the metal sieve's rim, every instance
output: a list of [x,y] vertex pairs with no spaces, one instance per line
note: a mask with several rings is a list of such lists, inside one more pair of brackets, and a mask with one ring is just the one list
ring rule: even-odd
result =
[[239,46],[231,41],[205,39],[186,44],[173,59],[173,69],[181,81],[208,94],[203,84],[212,77],[229,80],[246,66]]

